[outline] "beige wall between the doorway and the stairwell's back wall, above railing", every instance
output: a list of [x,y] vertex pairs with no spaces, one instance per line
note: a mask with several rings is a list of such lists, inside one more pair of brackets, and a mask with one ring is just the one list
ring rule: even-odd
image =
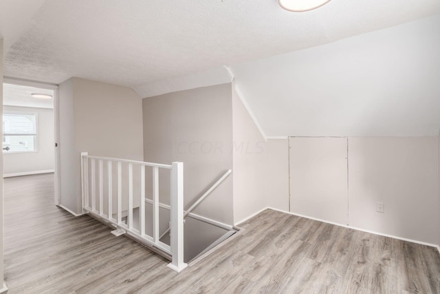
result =
[[59,87],[61,204],[79,213],[80,152],[143,160],[142,100],[130,88],[83,78]]

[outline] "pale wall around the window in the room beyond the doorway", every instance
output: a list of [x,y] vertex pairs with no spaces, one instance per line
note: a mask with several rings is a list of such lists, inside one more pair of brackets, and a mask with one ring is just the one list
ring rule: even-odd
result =
[[37,114],[38,145],[36,152],[3,154],[3,174],[26,174],[32,171],[53,171],[55,159],[54,109],[3,106],[12,112]]

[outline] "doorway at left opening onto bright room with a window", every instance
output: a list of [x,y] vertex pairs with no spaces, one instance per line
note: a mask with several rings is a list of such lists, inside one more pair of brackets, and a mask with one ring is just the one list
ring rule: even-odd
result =
[[56,85],[5,78],[3,83],[3,178],[53,174],[58,205]]

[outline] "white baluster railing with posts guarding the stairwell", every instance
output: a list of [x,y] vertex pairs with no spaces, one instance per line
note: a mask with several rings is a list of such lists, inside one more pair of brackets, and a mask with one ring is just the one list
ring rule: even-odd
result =
[[[96,170],[98,162],[98,171]],[[90,164],[90,169],[89,169]],[[128,180],[123,178],[122,165],[128,166]],[[107,173],[104,173],[104,165]],[[133,226],[133,166],[140,169],[140,226],[136,229]],[[117,169],[117,198],[116,218],[113,218],[113,167]],[[151,167],[153,173],[153,213],[150,216],[153,223],[153,233],[148,235],[145,229],[145,169]],[[170,170],[170,245],[159,240],[159,169]],[[96,177],[98,176],[98,205],[96,204]],[[104,189],[104,179],[108,187]],[[122,183],[128,181],[128,207],[126,207],[126,223],[122,221]],[[119,158],[108,158],[102,156],[89,156],[87,152],[81,153],[81,189],[83,200],[83,213],[89,213],[104,222],[113,224],[116,227],[112,231],[114,235],[124,233],[140,240],[148,245],[160,249],[171,256],[171,263],[168,264],[174,271],[183,270],[187,264],[184,263],[184,164],[173,162],[172,165],[159,163],[125,160]],[[107,213],[104,209],[104,193],[107,192]],[[137,196],[139,197],[139,196]]]

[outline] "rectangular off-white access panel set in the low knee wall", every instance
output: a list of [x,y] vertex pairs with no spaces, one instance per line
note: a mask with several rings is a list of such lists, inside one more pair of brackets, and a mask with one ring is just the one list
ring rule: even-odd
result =
[[290,211],[348,224],[347,138],[289,138]]

